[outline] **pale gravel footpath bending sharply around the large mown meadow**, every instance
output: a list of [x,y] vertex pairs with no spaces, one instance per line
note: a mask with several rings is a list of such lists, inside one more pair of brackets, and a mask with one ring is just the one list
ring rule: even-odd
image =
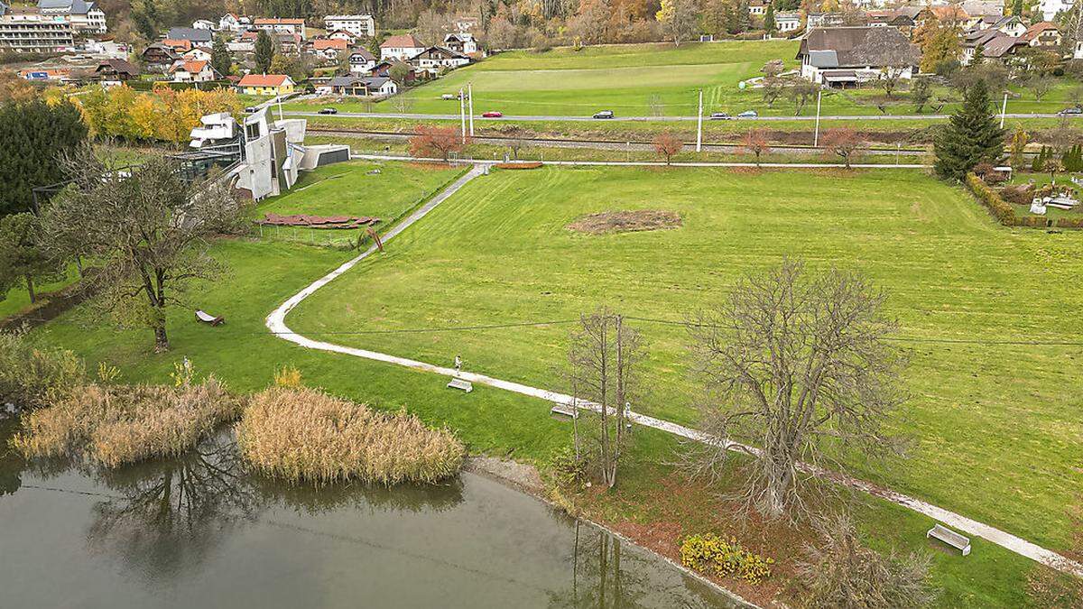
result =
[[[369,155],[360,155],[360,156],[363,156],[365,158],[383,158],[383,159],[389,158],[389,157],[380,157],[380,156],[375,156],[375,155],[371,155],[371,156],[369,156]],[[400,158],[400,157],[390,157],[390,158]],[[423,159],[413,159],[413,160],[423,160]],[[567,165],[576,165],[576,163],[567,163]],[[578,164],[578,165],[584,165],[584,164]],[[598,164],[591,164],[591,165],[650,165],[650,164],[601,164],[601,163],[598,163]],[[689,165],[693,165],[693,164],[689,164]],[[694,164],[694,165],[707,165],[707,164]],[[731,164],[718,164],[718,165],[726,166],[726,165],[731,165]],[[739,165],[739,164],[732,164],[732,165]],[[388,242],[390,242],[392,238],[394,238],[395,236],[397,236],[399,234],[401,234],[403,231],[405,231],[412,224],[414,224],[415,222],[417,222],[418,220],[420,220],[421,218],[423,218],[426,215],[428,215],[430,211],[432,211],[438,205],[440,205],[441,203],[447,200],[447,198],[449,198],[452,195],[454,195],[456,192],[458,192],[468,182],[470,182],[474,178],[478,178],[479,176],[485,174],[491,166],[492,166],[491,161],[479,161],[479,163],[475,163],[474,166],[473,166],[473,168],[470,171],[468,171],[466,174],[464,174],[462,177],[460,177],[458,180],[456,180],[454,183],[452,183],[452,185],[449,185],[443,192],[441,192],[440,194],[438,194],[434,197],[432,197],[432,199],[430,199],[428,203],[426,203],[420,208],[418,208],[413,213],[410,213],[402,222],[400,222],[394,228],[392,228],[390,231],[388,231],[381,237],[381,242],[384,243],[384,244],[388,243]],[[791,164],[791,165],[787,165],[787,166],[791,166],[791,167],[793,167],[793,166],[803,167],[803,165],[796,165],[796,164]],[[823,166],[820,165],[819,167],[823,167]],[[883,167],[883,166],[873,166],[873,167]],[[514,381],[510,381],[510,380],[504,380],[504,379],[500,379],[500,378],[494,378],[494,377],[486,376],[486,375],[483,375],[483,374],[456,371],[454,368],[448,368],[448,367],[444,367],[444,366],[438,366],[438,365],[429,364],[429,363],[426,363],[426,362],[420,362],[420,361],[417,361],[417,360],[410,360],[410,359],[407,359],[407,358],[400,358],[400,357],[391,355],[391,354],[388,354],[388,353],[381,353],[381,352],[378,352],[378,351],[369,351],[369,350],[366,350],[366,349],[357,349],[357,348],[353,348],[353,347],[345,347],[345,346],[342,346],[342,345],[335,345],[332,342],[324,342],[324,341],[321,341],[321,340],[313,340],[311,338],[306,338],[306,337],[301,336],[301,335],[299,335],[299,334],[297,334],[297,333],[295,333],[295,332],[292,332],[292,331],[289,329],[289,326],[286,325],[286,315],[288,315],[289,312],[295,307],[297,307],[298,304],[300,304],[301,301],[303,301],[305,298],[308,298],[309,296],[312,296],[316,290],[318,290],[319,288],[322,288],[325,285],[329,284],[330,282],[335,281],[337,277],[339,277],[340,275],[342,275],[343,273],[345,273],[347,271],[349,271],[350,269],[352,269],[353,267],[355,267],[358,262],[361,262],[362,260],[368,258],[369,256],[371,256],[376,251],[378,251],[378,247],[376,245],[373,245],[371,247],[369,247],[368,249],[366,249],[361,255],[358,255],[355,258],[347,261],[345,263],[343,263],[339,268],[335,269],[334,271],[331,271],[330,273],[324,275],[323,277],[316,280],[311,285],[309,285],[308,287],[305,287],[301,291],[299,291],[296,295],[293,295],[292,297],[290,297],[288,300],[286,300],[285,302],[283,302],[277,309],[275,309],[274,311],[272,311],[271,314],[268,315],[266,322],[265,322],[266,323],[266,327],[275,336],[278,336],[279,338],[283,338],[285,340],[288,340],[290,342],[293,342],[296,345],[304,347],[305,349],[315,349],[315,350],[327,351],[327,352],[332,352],[332,353],[342,353],[342,354],[345,354],[345,355],[353,355],[355,358],[364,358],[364,359],[367,359],[367,360],[374,360],[374,361],[378,361],[378,362],[384,362],[384,363],[389,363],[389,364],[395,364],[395,365],[400,365],[400,366],[409,367],[409,368],[413,368],[413,370],[416,370],[416,371],[428,372],[428,373],[432,373],[432,374],[439,374],[439,375],[442,375],[442,376],[448,376],[448,377],[457,376],[457,377],[462,378],[465,380],[469,380],[470,383],[478,383],[480,385],[485,385],[485,386],[488,386],[488,387],[494,387],[494,388],[497,388],[497,389],[503,389],[505,391],[512,391],[512,392],[520,393],[520,394],[523,394],[523,396],[529,396],[529,397],[532,397],[532,398],[537,398],[537,399],[540,399],[540,400],[545,400],[547,402],[552,402],[552,403],[562,404],[562,405],[566,405],[566,406],[577,407],[577,409],[590,410],[590,411],[593,411],[593,412],[599,412],[600,411],[600,406],[598,404],[595,404],[595,403],[591,403],[591,402],[585,402],[585,401],[582,401],[582,400],[576,401],[574,398],[572,398],[571,396],[567,396],[565,393],[560,393],[560,392],[557,392],[557,391],[550,391],[548,389],[540,389],[540,388],[537,388],[537,387],[531,387],[529,385],[523,385],[523,384],[514,383]],[[726,440],[723,438],[717,438],[717,437],[714,437],[714,436],[709,436],[707,433],[704,433],[702,431],[699,431],[699,430],[695,430],[695,429],[692,429],[692,428],[689,428],[689,427],[684,427],[684,426],[681,426],[681,425],[677,425],[675,423],[670,423],[668,420],[663,420],[663,419],[651,417],[651,416],[647,416],[647,415],[643,415],[643,414],[639,414],[639,413],[632,412],[632,413],[629,414],[629,418],[630,418],[630,420],[632,420],[634,423],[637,423],[639,425],[643,425],[645,427],[651,427],[651,428],[654,428],[654,429],[660,429],[662,431],[666,431],[668,433],[673,433],[673,435],[678,436],[680,438],[686,438],[686,439],[693,440],[693,441],[696,441],[696,442],[705,442],[705,443],[712,443],[712,444],[717,444],[717,445],[723,445],[723,446],[726,446],[729,450],[733,450],[733,451],[738,451],[738,452],[743,452],[743,453],[756,454],[758,452],[758,450],[756,448],[754,448],[754,446],[748,446],[748,445],[744,445],[744,444],[739,444],[736,442],[731,442],[731,441]],[[1020,555],[1020,556],[1025,556],[1025,557],[1030,558],[1032,560],[1042,562],[1044,565],[1048,565],[1049,567],[1052,567],[1054,569],[1057,569],[1057,570],[1059,570],[1061,572],[1071,573],[1071,574],[1074,574],[1077,576],[1083,578],[1083,565],[1081,565],[1081,563],[1079,563],[1079,562],[1077,562],[1074,560],[1071,560],[1069,558],[1066,558],[1065,556],[1061,556],[1060,554],[1057,554],[1057,553],[1055,553],[1055,552],[1053,552],[1051,549],[1046,549],[1046,548],[1044,548],[1042,546],[1039,546],[1036,544],[1028,542],[1027,540],[1023,540],[1021,537],[1017,537],[1017,536],[1015,536],[1015,535],[1013,535],[1010,533],[1007,533],[1005,531],[1002,531],[1000,529],[996,529],[996,528],[991,527],[989,524],[986,524],[983,522],[978,522],[976,520],[973,520],[970,518],[967,518],[967,517],[962,516],[960,514],[956,514],[954,511],[950,511],[950,510],[944,509],[942,507],[938,507],[936,505],[932,505],[932,504],[923,502],[921,500],[917,500],[917,498],[904,495],[902,493],[897,493],[895,491],[891,491],[890,489],[884,489],[884,488],[880,488],[880,487],[878,487],[876,484],[873,484],[871,482],[865,482],[863,480],[858,480],[856,478],[852,478],[852,477],[849,477],[849,476],[846,476],[846,475],[841,475],[841,474],[833,472],[833,471],[827,471],[827,470],[824,470],[824,469],[821,469],[821,468],[818,468],[818,467],[814,467],[814,466],[811,466],[811,465],[808,465],[808,464],[799,464],[799,468],[803,471],[814,474],[817,476],[820,476],[820,477],[833,480],[833,481],[835,481],[837,483],[846,484],[846,485],[851,487],[853,489],[866,492],[866,493],[869,493],[871,495],[884,498],[886,501],[889,501],[891,503],[895,503],[897,505],[900,505],[902,507],[905,507],[908,509],[911,509],[913,511],[916,511],[918,514],[922,514],[924,516],[927,516],[929,518],[932,518],[935,520],[943,522],[943,523],[948,524],[949,527],[952,527],[954,529],[958,529],[958,530],[961,530],[961,531],[963,531],[965,533],[968,533],[968,534],[971,534],[971,535],[977,535],[977,536],[982,537],[982,539],[984,539],[984,540],[987,540],[989,542],[992,542],[992,543],[994,543],[994,544],[996,544],[996,545],[999,545],[1001,547],[1004,547],[1005,549],[1012,550],[1012,552],[1014,552],[1014,553]]]

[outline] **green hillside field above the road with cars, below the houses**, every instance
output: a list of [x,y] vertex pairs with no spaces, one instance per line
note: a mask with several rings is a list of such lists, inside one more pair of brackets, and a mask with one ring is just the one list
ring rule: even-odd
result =
[[[500,111],[507,115],[589,116],[611,109],[619,116],[692,116],[697,92],[704,92],[704,111],[736,114],[755,109],[761,116],[793,116],[798,106],[784,96],[767,104],[759,89],[740,88],[740,82],[762,76],[764,64],[783,60],[796,68],[798,42],[791,40],[721,41],[686,43],[617,44],[560,48],[537,53],[514,51],[499,53],[472,66],[457,69],[438,80],[410,89],[406,101],[368,103],[343,100],[293,102],[287,109],[314,109],[331,105],[342,112],[412,112],[420,114],[458,114],[457,100],[443,100],[473,85],[474,113]],[[1026,89],[1012,86],[1009,113],[1054,113],[1078,99],[1080,83],[1065,78],[1035,100]],[[827,91],[822,100],[825,115],[915,114],[904,90],[887,98],[879,88]],[[952,112],[960,95],[948,87],[932,89],[932,102],[924,112],[942,106]],[[1000,111],[1000,100],[996,100]],[[800,114],[815,113],[815,100],[800,108]]]

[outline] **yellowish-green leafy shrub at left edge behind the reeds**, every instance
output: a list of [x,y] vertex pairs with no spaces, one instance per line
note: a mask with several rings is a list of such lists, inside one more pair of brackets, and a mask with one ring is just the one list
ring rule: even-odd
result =
[[40,406],[84,381],[82,362],[64,349],[39,349],[19,332],[0,332],[0,402]]

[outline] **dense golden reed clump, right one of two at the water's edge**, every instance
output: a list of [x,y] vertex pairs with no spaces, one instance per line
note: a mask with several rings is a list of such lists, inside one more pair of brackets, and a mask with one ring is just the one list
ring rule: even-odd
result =
[[302,387],[256,394],[237,424],[240,454],[257,470],[325,484],[435,482],[462,467],[462,443],[405,412],[387,414]]

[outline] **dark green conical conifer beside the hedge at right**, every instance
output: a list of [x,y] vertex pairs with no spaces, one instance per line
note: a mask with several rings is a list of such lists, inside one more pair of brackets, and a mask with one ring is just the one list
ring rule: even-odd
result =
[[1004,153],[1004,135],[989,111],[984,80],[975,81],[963,95],[963,107],[951,116],[934,144],[937,174],[961,181],[979,163],[994,163]]

